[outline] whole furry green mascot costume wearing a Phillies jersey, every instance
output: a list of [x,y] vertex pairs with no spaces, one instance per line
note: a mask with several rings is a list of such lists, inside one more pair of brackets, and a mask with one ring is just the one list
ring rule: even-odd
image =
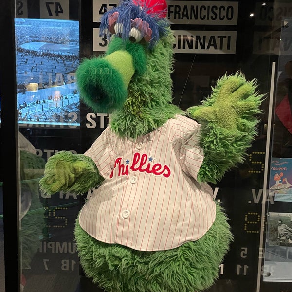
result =
[[105,55],[77,69],[80,97],[111,113],[84,154],[46,163],[45,194],[90,196],[74,236],[86,276],[107,292],[198,292],[233,240],[212,188],[256,135],[256,80],[225,74],[201,105],[172,103],[174,36],[164,0],[124,0],[101,18]]

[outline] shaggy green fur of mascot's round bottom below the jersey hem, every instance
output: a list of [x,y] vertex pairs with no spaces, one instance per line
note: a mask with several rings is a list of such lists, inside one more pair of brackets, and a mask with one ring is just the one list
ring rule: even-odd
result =
[[89,236],[76,220],[78,255],[86,276],[108,292],[195,292],[218,278],[219,265],[233,240],[222,207],[199,240],[179,248],[141,252]]

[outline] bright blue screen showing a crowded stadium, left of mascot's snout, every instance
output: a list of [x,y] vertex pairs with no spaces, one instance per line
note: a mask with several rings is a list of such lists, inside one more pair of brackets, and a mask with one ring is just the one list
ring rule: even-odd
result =
[[15,19],[19,126],[78,128],[79,21]]

